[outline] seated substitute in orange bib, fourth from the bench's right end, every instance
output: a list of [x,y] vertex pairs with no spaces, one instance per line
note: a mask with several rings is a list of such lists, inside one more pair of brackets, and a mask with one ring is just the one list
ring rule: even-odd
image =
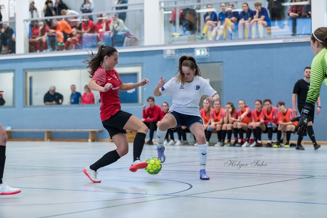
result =
[[234,131],[238,132],[240,138],[235,139],[234,144],[235,146],[242,146],[244,144],[243,132],[248,130],[248,125],[252,121],[252,111],[243,100],[238,101],[238,107],[240,109],[237,111],[238,119],[234,122]]

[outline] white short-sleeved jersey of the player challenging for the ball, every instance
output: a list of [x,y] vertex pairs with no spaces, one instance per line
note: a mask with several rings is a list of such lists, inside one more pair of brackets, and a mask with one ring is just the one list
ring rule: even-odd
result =
[[209,95],[212,97],[217,93],[205,79],[200,76],[194,76],[192,82],[185,82],[181,86],[181,82],[177,83],[177,77],[170,79],[160,89],[162,95],[173,95],[173,104],[169,108],[176,112],[199,116],[199,101],[202,95]]

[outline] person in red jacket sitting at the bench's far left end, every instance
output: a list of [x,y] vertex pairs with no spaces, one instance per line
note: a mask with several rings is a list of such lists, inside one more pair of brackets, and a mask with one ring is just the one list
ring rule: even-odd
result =
[[150,129],[150,139],[146,144],[152,145],[153,133],[157,129],[157,121],[160,118],[161,108],[154,104],[154,98],[152,96],[147,98],[147,103],[149,107],[146,109],[146,106],[143,105],[143,118],[141,121]]

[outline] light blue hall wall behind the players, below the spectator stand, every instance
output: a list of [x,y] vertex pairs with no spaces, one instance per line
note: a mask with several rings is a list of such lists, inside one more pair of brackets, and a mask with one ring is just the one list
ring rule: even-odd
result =
[[[193,55],[194,49],[179,49],[179,55]],[[199,63],[223,62],[223,97],[237,105],[239,99],[245,100],[253,109],[255,99],[270,98],[273,105],[280,100],[286,107],[292,108],[291,97],[294,83],[303,77],[303,69],[310,66],[314,54],[310,42],[280,44],[260,44],[243,46],[211,47],[210,56],[198,58]],[[14,128],[100,128],[103,129],[99,106],[87,107],[32,107],[24,108],[24,69],[56,67],[81,67],[82,56],[0,60],[2,70],[14,70],[15,99],[14,108],[1,108],[0,122],[3,126]],[[74,63],[74,64],[72,64]],[[150,84],[142,87],[142,104],[146,98],[153,96],[153,88],[161,76],[171,78],[177,71],[177,59],[164,59],[163,51],[144,51],[119,54],[118,66],[124,64],[143,64],[143,78],[149,78]],[[119,72],[118,72],[119,73]],[[218,93],[219,94],[219,93]],[[322,87],[322,113],[315,116],[315,135],[319,141],[327,141],[325,131],[327,92]],[[156,97],[156,103],[172,101],[171,97]],[[142,116],[142,105],[123,106],[123,110]],[[14,135],[15,136],[15,135]],[[43,134],[18,134],[18,137],[43,138]],[[108,138],[108,133],[98,133],[98,138]],[[87,138],[81,134],[54,134],[54,138]],[[275,139],[275,136],[274,136]],[[295,140],[295,136],[292,136]],[[309,140],[305,138],[304,140]]]

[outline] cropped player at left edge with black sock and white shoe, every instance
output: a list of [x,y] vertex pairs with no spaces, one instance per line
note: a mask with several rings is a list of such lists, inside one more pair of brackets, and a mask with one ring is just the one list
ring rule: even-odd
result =
[[[0,98],[3,97],[3,91],[0,91]],[[0,124],[0,195],[2,194],[17,194],[21,190],[17,188],[9,187],[5,182],[2,181],[3,171],[5,169],[6,161],[6,144],[7,144],[7,134],[5,129]]]

